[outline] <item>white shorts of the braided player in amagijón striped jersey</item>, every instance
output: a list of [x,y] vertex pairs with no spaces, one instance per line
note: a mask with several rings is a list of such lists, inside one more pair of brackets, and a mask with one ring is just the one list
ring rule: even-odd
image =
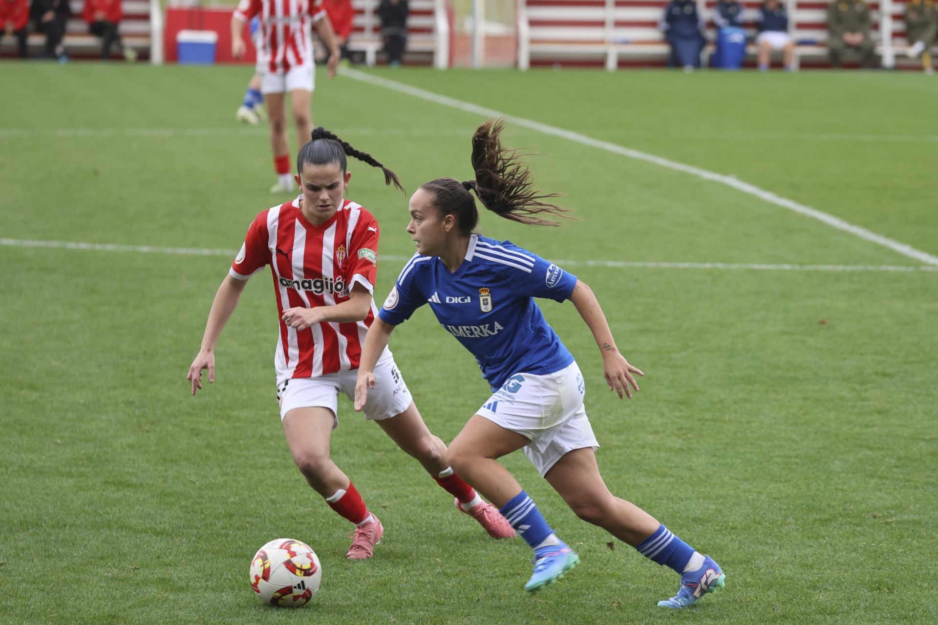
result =
[[[332,429],[339,427],[339,394],[355,401],[355,385],[358,369],[328,373],[319,378],[288,379],[277,388],[280,402],[280,420],[287,412],[295,408],[327,408],[332,410],[335,423]],[[368,392],[368,402],[363,412],[365,418],[380,421],[401,414],[413,401],[403,376],[394,364],[391,350],[385,349],[374,365],[374,388]]]

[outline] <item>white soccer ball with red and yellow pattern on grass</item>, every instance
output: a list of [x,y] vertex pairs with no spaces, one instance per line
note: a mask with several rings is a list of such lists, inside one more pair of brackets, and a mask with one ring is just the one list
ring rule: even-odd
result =
[[310,545],[291,538],[266,543],[250,560],[250,588],[263,603],[306,605],[322,578],[323,568]]

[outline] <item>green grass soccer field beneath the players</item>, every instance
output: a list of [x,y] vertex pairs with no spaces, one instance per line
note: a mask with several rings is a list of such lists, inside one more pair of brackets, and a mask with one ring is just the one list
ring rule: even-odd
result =
[[[512,469],[582,564],[522,592],[496,543],[341,400],[333,456],[386,526],[367,562],[295,469],[274,401],[276,308],[252,280],[189,396],[205,317],[251,218],[278,203],[264,128],[236,126],[246,67],[3,64],[0,92],[0,623],[928,623],[938,559],[938,273],[681,171],[509,123],[537,181],[581,220],[482,217],[598,293],[643,368],[608,393],[574,307],[542,307],[587,379],[613,492],[717,558],[727,587],[659,610],[676,578],[579,521],[522,454]],[[734,175],[938,255],[918,74],[374,70],[374,75]],[[321,72],[314,121],[409,190],[466,179],[484,117]],[[295,147],[292,148],[295,155]],[[383,227],[380,297],[413,252],[406,199],[352,161]],[[220,250],[23,246],[40,240]],[[225,250],[228,250],[227,252]],[[230,253],[229,253],[230,252]],[[604,266],[851,265],[869,271]],[[882,271],[881,266],[917,267]],[[933,269],[933,267],[932,267]],[[423,308],[392,338],[431,430],[489,396]],[[258,603],[250,557],[293,537],[322,559],[307,607]],[[613,548],[614,547],[614,548]]]

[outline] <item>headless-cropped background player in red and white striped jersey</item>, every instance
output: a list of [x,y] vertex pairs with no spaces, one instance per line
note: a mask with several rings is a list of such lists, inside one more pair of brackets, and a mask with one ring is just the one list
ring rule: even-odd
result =
[[261,93],[266,100],[270,121],[270,147],[274,156],[277,183],[272,193],[296,190],[290,173],[290,147],[286,128],[286,94],[290,94],[291,112],[299,146],[312,131],[310,98],[314,86],[310,22],[329,51],[327,74],[332,78],[339,67],[339,47],[321,0],[241,0],[232,17],[232,55],[241,58],[246,51],[241,33],[254,16],[260,18],[261,48],[265,60]]

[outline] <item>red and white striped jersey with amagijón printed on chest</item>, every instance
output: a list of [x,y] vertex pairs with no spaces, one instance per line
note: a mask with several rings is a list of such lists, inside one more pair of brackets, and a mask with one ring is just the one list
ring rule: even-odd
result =
[[270,265],[280,322],[274,355],[278,385],[358,368],[362,343],[378,313],[373,300],[368,317],[357,322],[323,322],[297,331],[282,317],[295,306],[347,302],[356,283],[373,294],[377,254],[378,222],[354,201],[342,201],[336,214],[319,226],[300,212],[299,198],[254,218],[229,275],[247,280]]

